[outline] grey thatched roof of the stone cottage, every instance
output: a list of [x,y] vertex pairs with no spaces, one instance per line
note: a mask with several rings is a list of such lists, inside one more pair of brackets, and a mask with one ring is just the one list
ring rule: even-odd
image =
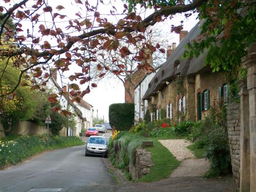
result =
[[156,73],[153,79],[148,84],[148,89],[142,98],[143,100],[149,99],[154,96],[158,91],[161,91],[166,85],[166,81],[172,81],[178,75],[186,77],[193,76],[198,73],[205,73],[210,70],[208,66],[204,65],[204,60],[207,54],[205,51],[199,57],[193,57],[192,59],[182,59],[185,51],[185,45],[188,42],[192,42],[197,39],[201,33],[201,22],[198,22],[193,29],[181,40],[180,44],[173,51],[167,60],[163,63],[160,70]]

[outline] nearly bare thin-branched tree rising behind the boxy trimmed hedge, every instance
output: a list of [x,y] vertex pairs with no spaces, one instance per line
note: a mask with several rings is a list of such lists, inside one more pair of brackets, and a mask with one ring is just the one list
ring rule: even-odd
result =
[[[167,47],[168,41],[166,38],[171,39],[168,35],[163,34],[161,29],[156,27],[148,27],[145,30],[145,36],[147,36],[148,44],[161,44],[162,47]],[[127,47],[129,50],[139,50],[144,45],[144,41],[137,46],[129,45],[127,42],[121,42],[122,47]],[[136,53],[136,52],[135,52]],[[134,82],[133,72],[137,70],[137,62],[133,59],[134,54],[131,53],[127,57],[120,55],[119,51],[113,50],[112,52],[102,51],[101,57],[97,57],[98,63],[92,72],[95,76],[94,79],[104,80],[104,78],[113,78],[116,77],[123,84],[125,91],[130,95],[132,102],[134,102],[134,93],[133,90],[136,87],[136,82]],[[109,58],[109,59],[105,59]],[[166,60],[166,54],[162,52],[155,52],[152,57],[148,59],[150,65],[155,69]],[[98,70],[100,67],[109,68],[105,72],[104,78],[97,78],[101,75],[101,70]],[[102,68],[103,69],[103,68]],[[129,81],[130,83],[125,83]]]

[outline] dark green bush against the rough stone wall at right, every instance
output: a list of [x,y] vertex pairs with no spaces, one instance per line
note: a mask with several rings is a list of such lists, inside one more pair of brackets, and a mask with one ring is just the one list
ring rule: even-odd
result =
[[206,158],[210,160],[211,177],[231,172],[230,149],[227,129],[224,126],[213,126],[208,135],[209,145]]

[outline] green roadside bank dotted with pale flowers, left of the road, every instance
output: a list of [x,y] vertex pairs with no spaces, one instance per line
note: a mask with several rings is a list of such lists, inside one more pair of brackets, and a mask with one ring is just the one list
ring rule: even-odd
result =
[[45,150],[82,145],[79,137],[20,136],[13,140],[0,140],[0,166],[16,164]]

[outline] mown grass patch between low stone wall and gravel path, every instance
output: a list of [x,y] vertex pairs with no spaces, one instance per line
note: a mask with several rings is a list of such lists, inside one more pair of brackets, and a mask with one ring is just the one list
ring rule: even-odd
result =
[[149,174],[140,178],[139,182],[153,182],[167,178],[180,164],[157,139],[153,139],[153,141],[154,146],[148,147],[147,151],[151,152],[154,166],[150,168]]

